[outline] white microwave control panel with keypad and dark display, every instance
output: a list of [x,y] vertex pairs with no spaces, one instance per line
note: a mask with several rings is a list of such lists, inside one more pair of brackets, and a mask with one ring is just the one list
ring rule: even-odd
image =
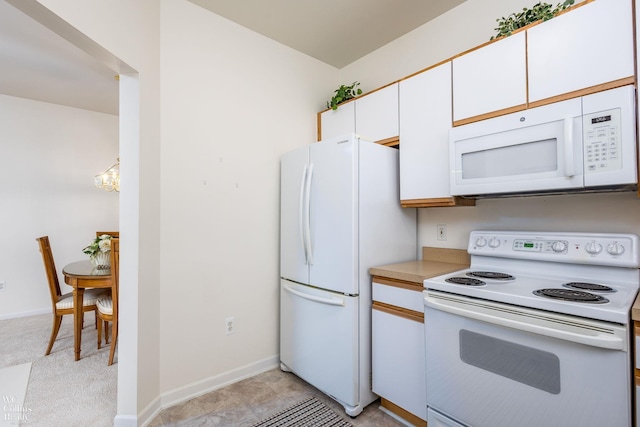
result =
[[620,109],[583,116],[585,174],[622,169]]

